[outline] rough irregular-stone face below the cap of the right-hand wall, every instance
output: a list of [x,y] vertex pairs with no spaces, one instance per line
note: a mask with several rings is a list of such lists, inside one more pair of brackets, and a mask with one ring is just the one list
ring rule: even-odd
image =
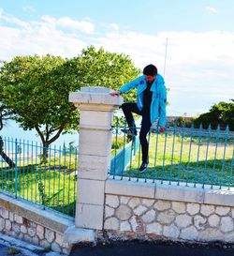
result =
[[234,243],[233,218],[234,207],[107,195],[104,229],[132,238]]

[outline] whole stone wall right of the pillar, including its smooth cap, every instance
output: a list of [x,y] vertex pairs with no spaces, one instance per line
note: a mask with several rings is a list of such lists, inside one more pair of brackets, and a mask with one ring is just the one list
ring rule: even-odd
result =
[[104,230],[115,239],[234,243],[234,188],[109,179]]

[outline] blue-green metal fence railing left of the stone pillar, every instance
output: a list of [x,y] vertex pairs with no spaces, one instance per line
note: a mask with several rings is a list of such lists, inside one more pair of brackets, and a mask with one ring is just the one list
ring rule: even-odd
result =
[[0,190],[75,217],[78,149],[9,138],[0,142]]

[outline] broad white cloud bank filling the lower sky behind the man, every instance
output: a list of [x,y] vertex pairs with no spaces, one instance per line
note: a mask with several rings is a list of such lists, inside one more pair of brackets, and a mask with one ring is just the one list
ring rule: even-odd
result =
[[[165,71],[170,88],[169,113],[208,111],[213,103],[233,98],[234,33],[164,31],[146,35],[121,31],[110,23],[109,28],[106,26],[106,34],[99,31],[88,34],[94,32],[93,23],[77,22],[68,17],[43,16],[41,20],[25,23],[6,16],[4,12],[0,14],[0,60],[35,53],[70,57],[93,44],[110,52],[128,54],[139,68],[153,63],[161,74]],[[111,26],[116,30],[110,33]],[[66,28],[84,34],[71,33]],[[164,69],[166,38],[168,55]]]

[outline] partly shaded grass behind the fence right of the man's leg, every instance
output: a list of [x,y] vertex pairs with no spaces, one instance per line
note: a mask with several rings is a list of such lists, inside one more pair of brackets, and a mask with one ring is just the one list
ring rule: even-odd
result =
[[139,173],[140,152],[133,158],[124,175],[171,181],[232,187],[233,139],[182,139],[178,135],[149,136],[149,167]]

